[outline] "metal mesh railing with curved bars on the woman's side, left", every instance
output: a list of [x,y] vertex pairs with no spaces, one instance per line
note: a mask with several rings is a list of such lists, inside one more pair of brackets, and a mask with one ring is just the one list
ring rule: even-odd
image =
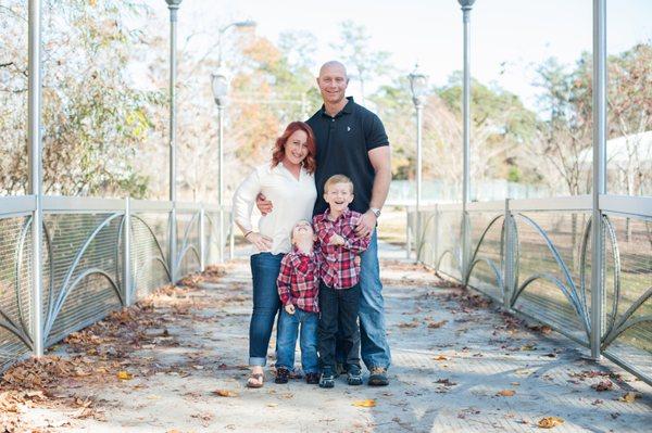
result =
[[229,208],[177,202],[177,251],[171,260],[172,202],[42,200],[42,294],[35,296],[30,233],[36,200],[0,198],[0,371],[35,351],[35,300],[40,297],[48,347],[171,282],[172,275],[181,278],[222,262],[227,230],[233,239]]

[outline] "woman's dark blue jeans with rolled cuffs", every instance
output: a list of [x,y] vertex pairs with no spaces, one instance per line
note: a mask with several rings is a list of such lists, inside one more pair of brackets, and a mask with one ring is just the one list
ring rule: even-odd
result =
[[249,365],[264,367],[274,319],[280,308],[276,279],[284,254],[259,253],[251,256],[253,311],[249,324]]

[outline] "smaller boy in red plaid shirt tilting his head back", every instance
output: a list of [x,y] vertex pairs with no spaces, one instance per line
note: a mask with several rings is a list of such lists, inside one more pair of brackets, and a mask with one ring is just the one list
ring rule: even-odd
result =
[[301,367],[305,382],[319,382],[317,360],[317,322],[319,307],[319,257],[313,251],[314,231],[306,220],[292,228],[292,251],[280,262],[276,280],[284,306],[278,319],[276,383],[288,383],[294,368],[294,347],[301,324]]

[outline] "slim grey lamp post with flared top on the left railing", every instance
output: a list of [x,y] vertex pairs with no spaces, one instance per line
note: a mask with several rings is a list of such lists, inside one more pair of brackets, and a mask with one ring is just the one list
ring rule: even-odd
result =
[[183,0],[165,0],[170,10],[170,277],[176,282],[176,23]]

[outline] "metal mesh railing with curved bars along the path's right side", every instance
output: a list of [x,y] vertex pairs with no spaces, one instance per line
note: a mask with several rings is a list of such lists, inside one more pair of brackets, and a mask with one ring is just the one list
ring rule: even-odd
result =
[[[408,232],[417,260],[584,346],[598,333],[599,353],[652,384],[652,198],[600,196],[600,288],[591,285],[591,206],[589,195],[474,202],[466,215],[439,204],[409,209]],[[592,298],[603,303],[598,323]]]

